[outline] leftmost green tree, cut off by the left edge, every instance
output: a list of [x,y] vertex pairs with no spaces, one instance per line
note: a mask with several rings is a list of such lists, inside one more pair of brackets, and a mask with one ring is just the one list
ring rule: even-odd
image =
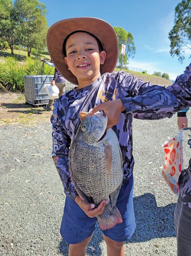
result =
[[0,38],[8,43],[13,54],[13,45],[18,43],[18,18],[11,0],[0,0]]

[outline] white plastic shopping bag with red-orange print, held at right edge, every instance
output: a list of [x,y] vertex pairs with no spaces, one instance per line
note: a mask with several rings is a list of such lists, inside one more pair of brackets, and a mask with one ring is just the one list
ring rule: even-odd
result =
[[180,130],[177,136],[165,141],[162,147],[165,151],[165,165],[162,176],[173,193],[179,194],[178,178],[183,170],[182,133]]

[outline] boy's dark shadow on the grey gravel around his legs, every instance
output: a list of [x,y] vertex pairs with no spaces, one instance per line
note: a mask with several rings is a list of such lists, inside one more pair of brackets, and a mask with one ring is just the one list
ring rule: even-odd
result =
[[[146,193],[139,197],[134,197],[134,212],[137,228],[127,243],[139,243],[149,241],[154,238],[175,237],[174,210],[175,203],[157,207],[155,196]],[[91,242],[88,244],[95,250],[87,248],[87,255],[100,256],[99,244],[103,241],[102,231],[96,223],[95,231]],[[61,241],[59,244],[60,253],[68,255],[68,244]]]

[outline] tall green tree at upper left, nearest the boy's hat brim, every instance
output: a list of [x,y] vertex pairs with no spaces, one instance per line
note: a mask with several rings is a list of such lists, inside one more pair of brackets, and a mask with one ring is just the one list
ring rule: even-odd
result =
[[38,0],[15,0],[15,8],[19,20],[19,43],[27,47],[30,56],[32,48],[42,50],[46,44],[45,5]]

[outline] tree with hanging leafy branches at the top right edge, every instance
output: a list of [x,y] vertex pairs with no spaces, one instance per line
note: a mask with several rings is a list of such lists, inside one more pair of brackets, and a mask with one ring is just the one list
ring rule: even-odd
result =
[[180,63],[185,59],[185,49],[191,49],[191,1],[182,0],[175,7],[175,20],[170,39],[170,55],[178,56]]

